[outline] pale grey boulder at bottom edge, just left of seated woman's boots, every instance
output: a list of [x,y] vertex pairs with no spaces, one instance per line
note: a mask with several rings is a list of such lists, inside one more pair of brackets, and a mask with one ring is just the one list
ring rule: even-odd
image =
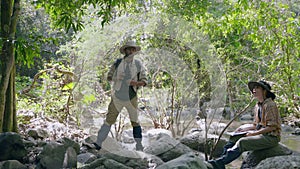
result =
[[193,153],[184,154],[176,159],[168,161],[156,169],[206,169],[204,159]]

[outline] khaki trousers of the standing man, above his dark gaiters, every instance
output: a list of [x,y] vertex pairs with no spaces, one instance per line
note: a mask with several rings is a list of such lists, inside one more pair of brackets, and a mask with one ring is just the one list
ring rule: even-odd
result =
[[114,124],[116,122],[118,115],[125,107],[128,111],[131,125],[133,127],[140,126],[138,120],[137,106],[138,106],[137,97],[134,97],[133,99],[128,101],[123,101],[113,95],[108,105],[108,113],[106,114],[106,120],[105,120],[106,124],[108,125]]

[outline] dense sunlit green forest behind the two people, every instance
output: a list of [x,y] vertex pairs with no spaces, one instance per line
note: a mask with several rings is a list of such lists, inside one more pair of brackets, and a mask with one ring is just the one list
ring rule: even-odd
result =
[[248,81],[265,79],[282,117],[300,118],[299,15],[298,0],[2,0],[0,132],[28,123],[24,110],[80,125],[105,107],[130,39],[149,71],[145,107],[176,120],[191,107],[237,113]]

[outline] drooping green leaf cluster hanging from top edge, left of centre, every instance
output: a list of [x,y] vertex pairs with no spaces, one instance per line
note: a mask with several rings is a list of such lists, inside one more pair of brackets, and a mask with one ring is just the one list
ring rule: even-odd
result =
[[102,18],[101,25],[104,26],[112,18],[114,8],[126,8],[126,4],[130,0],[76,0],[76,1],[61,1],[61,0],[37,0],[34,4],[38,8],[45,8],[54,21],[54,26],[62,27],[75,32],[81,31],[84,28],[83,18],[87,15],[89,6],[99,7],[96,13],[99,18]]

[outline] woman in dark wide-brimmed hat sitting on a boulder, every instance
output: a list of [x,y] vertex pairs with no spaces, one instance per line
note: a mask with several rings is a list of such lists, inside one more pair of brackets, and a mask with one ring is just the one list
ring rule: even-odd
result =
[[214,169],[225,169],[225,165],[237,159],[242,152],[271,148],[280,141],[281,118],[271,86],[265,81],[259,81],[249,82],[248,87],[258,101],[254,108],[254,123],[247,128],[238,128],[236,132],[247,133],[232,136],[224,146],[223,155],[208,161]]

